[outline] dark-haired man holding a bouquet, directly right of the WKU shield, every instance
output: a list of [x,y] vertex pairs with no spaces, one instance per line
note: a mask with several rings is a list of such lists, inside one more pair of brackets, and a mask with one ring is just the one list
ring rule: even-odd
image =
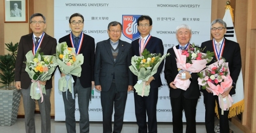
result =
[[[140,16],[137,20],[138,31],[141,37],[131,42],[133,55],[141,56],[146,48],[150,53],[163,55],[163,42],[157,37],[152,37],[150,31],[152,29],[152,19],[149,16]],[[135,115],[139,133],[157,133],[157,99],[158,88],[162,85],[160,73],[163,69],[162,62],[157,69],[157,73],[151,76],[145,85],[150,85],[149,96],[140,96],[134,90]],[[134,85],[138,78],[134,75]],[[146,117],[148,115],[148,126]],[[148,128],[148,129],[147,129]],[[148,132],[147,132],[148,130]]]

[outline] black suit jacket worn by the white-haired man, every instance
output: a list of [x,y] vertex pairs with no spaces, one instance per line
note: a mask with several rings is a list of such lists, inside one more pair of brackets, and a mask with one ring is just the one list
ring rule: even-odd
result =
[[[175,46],[177,49],[179,49],[179,45]],[[177,64],[176,64],[176,55],[173,50],[173,48],[169,48],[167,53],[170,53],[171,55],[169,57],[166,57],[165,62],[165,69],[164,69],[164,75],[165,79],[167,81],[167,84],[170,88],[170,97],[177,98],[180,96],[180,93],[183,91],[179,88],[174,89],[170,87],[170,83],[174,81],[175,77],[178,74],[177,71]],[[183,96],[187,99],[198,99],[199,96],[201,96],[199,85],[198,85],[198,75],[197,73],[191,74],[192,78],[189,80],[191,81],[189,88],[183,93]]]

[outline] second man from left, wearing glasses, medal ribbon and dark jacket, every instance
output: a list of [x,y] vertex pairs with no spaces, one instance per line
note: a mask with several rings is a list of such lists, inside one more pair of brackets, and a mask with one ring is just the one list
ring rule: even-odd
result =
[[[69,26],[72,32],[62,37],[59,42],[67,42],[68,47],[76,48],[76,54],[83,54],[84,63],[81,65],[81,76],[73,76],[74,79],[74,93],[70,91],[62,93],[67,133],[76,133],[76,119],[75,119],[75,99],[72,95],[77,93],[78,105],[80,112],[80,133],[89,133],[89,100],[91,88],[94,86],[94,59],[95,59],[95,42],[93,37],[83,34],[81,31],[84,28],[84,17],[79,13],[72,14],[69,19]],[[64,74],[61,74],[64,76]]]

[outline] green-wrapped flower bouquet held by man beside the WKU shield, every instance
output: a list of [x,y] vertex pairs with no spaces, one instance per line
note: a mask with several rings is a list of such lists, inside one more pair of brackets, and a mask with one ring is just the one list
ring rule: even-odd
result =
[[157,68],[166,56],[169,56],[169,53],[161,56],[161,54],[150,54],[145,49],[141,57],[134,56],[131,58],[131,66],[129,68],[134,75],[138,76],[138,81],[134,85],[138,95],[149,95],[150,85],[145,85],[145,82],[157,73]]

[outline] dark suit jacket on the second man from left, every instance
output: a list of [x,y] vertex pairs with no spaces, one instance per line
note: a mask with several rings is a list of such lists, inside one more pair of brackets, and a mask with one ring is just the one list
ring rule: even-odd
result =
[[[82,33],[83,34],[83,33]],[[70,41],[70,34],[59,39],[59,42],[67,42],[68,47],[72,47]],[[92,81],[94,81],[94,59],[95,59],[95,42],[94,38],[84,34],[84,39],[79,54],[83,54],[84,63],[81,65],[82,71],[80,81],[83,88],[91,87]],[[77,77],[72,75],[76,85]]]

